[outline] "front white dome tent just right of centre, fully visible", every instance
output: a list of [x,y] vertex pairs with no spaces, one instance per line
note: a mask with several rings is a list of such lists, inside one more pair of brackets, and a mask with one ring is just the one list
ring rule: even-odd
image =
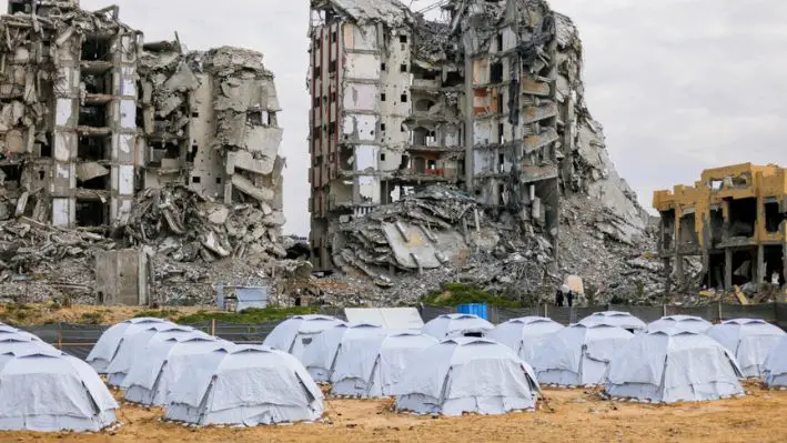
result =
[[532,410],[541,390],[531,366],[508,346],[456,336],[422,351],[393,392],[397,410],[455,416]]

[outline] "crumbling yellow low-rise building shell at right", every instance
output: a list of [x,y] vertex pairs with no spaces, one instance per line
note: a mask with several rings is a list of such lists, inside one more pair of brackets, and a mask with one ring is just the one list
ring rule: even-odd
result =
[[787,170],[708,169],[693,187],[656,191],[653,205],[662,215],[659,254],[677,285],[689,283],[684,264],[690,256],[702,258],[702,283],[710,289],[785,283]]

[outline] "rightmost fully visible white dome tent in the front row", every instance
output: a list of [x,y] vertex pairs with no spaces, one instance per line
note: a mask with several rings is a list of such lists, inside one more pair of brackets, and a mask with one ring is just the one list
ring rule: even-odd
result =
[[609,363],[605,391],[654,403],[743,395],[735,356],[709,336],[677,329],[637,334]]

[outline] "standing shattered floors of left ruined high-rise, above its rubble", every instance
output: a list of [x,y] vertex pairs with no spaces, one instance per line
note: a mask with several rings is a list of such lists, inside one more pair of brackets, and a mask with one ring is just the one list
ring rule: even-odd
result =
[[0,168],[11,212],[122,224],[139,191],[178,183],[281,213],[280,109],[260,53],[144,43],[117,7],[9,0],[9,13]]

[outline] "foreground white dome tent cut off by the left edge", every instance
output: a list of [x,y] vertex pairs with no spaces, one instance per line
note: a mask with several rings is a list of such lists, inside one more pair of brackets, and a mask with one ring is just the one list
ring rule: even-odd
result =
[[99,431],[118,403],[87,363],[60,351],[0,354],[0,430]]

